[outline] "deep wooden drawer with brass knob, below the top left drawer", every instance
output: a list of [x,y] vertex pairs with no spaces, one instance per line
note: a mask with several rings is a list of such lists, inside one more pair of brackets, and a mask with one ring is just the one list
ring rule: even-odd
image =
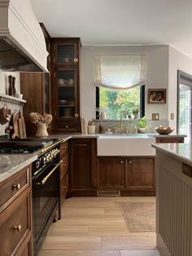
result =
[[15,254],[15,248],[24,244],[26,236],[31,232],[30,218],[30,194],[15,200],[0,214],[0,237],[3,237],[1,256],[11,255],[13,252]]

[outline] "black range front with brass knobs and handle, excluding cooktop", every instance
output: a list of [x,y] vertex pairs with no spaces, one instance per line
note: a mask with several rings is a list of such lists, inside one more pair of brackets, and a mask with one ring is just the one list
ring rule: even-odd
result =
[[33,162],[33,244],[41,248],[47,231],[59,214],[59,144],[49,147]]

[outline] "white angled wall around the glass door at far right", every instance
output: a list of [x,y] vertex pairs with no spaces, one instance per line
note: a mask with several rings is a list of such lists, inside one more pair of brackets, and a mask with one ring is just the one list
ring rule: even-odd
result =
[[[177,129],[177,70],[192,76],[192,59],[169,46],[168,65],[168,119],[169,125]],[[174,113],[174,120],[171,120]]]

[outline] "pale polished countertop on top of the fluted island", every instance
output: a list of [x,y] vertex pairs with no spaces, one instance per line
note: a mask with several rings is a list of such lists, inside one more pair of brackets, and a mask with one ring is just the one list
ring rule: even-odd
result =
[[192,144],[190,143],[153,143],[152,147],[192,166]]

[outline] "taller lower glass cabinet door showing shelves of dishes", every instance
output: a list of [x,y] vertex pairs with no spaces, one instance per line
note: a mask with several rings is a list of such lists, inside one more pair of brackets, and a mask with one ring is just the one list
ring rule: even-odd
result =
[[57,117],[76,117],[76,68],[57,69]]

